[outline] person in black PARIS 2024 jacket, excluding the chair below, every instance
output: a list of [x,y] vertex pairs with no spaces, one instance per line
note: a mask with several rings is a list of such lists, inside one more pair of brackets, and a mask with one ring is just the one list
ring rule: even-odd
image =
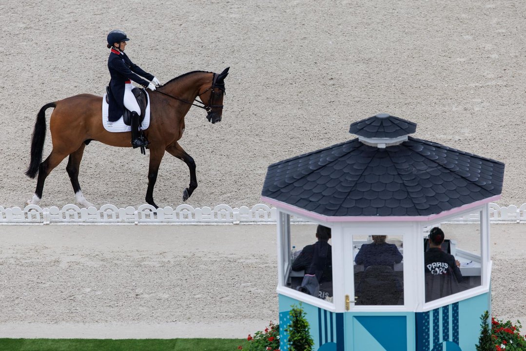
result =
[[[457,282],[461,282],[460,262],[453,255],[443,252],[444,232],[439,227],[431,228],[429,232],[429,249],[424,253],[426,273],[432,275],[448,275],[453,272]],[[451,269],[450,269],[451,268]]]

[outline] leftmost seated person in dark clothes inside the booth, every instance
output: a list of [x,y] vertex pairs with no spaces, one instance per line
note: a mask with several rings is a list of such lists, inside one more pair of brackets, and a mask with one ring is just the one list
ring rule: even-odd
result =
[[332,252],[329,245],[331,229],[318,225],[316,238],[316,243],[301,250],[292,262],[292,270],[305,270],[305,276],[297,290],[325,299],[332,296]]

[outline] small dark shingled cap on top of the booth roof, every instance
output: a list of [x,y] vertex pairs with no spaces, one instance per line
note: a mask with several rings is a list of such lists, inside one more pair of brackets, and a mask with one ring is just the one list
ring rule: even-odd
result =
[[414,133],[417,124],[405,119],[380,113],[351,124],[349,133],[366,138],[396,138]]

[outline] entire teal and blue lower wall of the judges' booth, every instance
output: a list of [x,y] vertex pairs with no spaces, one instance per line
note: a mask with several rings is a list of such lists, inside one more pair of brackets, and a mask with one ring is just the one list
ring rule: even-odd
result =
[[[280,349],[288,351],[292,305],[279,295]],[[478,343],[480,317],[491,309],[490,294],[461,300],[427,312],[332,313],[301,303],[315,351],[470,351]]]

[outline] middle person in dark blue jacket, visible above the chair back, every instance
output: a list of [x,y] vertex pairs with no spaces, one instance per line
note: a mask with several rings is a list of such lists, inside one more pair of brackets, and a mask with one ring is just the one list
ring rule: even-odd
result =
[[386,235],[373,235],[371,244],[363,244],[355,257],[357,265],[363,269],[369,266],[389,266],[402,262],[403,256],[395,244],[386,243]]

